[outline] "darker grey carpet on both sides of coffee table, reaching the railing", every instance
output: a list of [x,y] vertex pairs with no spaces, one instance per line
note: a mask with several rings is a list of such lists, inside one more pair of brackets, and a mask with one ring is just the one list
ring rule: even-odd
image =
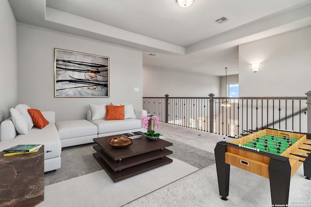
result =
[[[214,149],[209,141],[213,143],[224,139],[220,135],[165,123],[161,123],[158,131],[163,135],[161,139],[173,143],[168,147],[173,154],[168,157],[182,160],[198,169],[215,162]],[[102,170],[93,157],[94,144],[65,147],[61,153],[61,168],[44,176],[45,186]]]

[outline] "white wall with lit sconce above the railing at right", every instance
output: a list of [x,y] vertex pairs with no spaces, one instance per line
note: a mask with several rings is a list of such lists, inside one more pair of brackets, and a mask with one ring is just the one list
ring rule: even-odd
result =
[[310,78],[311,26],[239,47],[240,96],[305,96]]

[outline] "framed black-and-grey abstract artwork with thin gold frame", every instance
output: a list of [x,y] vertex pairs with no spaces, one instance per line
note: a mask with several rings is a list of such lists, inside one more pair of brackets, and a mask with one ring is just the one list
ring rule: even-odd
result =
[[109,57],[54,49],[55,97],[109,97]]

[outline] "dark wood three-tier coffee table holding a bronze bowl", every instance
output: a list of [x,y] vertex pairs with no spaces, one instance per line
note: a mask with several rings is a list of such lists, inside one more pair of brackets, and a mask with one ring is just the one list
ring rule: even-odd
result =
[[117,149],[109,145],[110,138],[120,136],[93,139],[97,143],[93,146],[96,150],[93,156],[114,182],[173,162],[166,157],[173,152],[165,148],[173,143],[161,139],[149,141],[142,135],[141,138],[133,139],[132,145],[127,148]]

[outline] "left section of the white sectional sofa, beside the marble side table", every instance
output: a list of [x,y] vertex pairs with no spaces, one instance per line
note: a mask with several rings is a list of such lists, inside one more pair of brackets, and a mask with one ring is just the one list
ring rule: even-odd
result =
[[27,134],[18,134],[12,118],[4,120],[0,125],[0,151],[17,144],[44,145],[44,172],[60,168],[61,143],[55,126],[55,112],[41,111],[49,124],[40,129],[32,127]]

